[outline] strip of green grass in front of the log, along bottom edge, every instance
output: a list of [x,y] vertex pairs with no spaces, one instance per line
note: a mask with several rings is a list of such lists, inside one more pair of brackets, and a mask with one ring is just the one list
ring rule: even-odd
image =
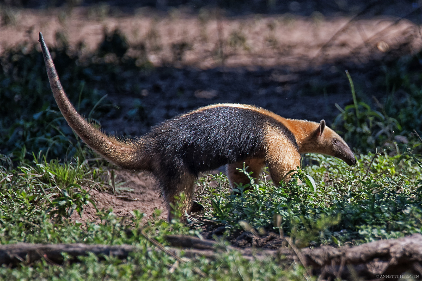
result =
[[[80,262],[64,266],[37,262],[18,268],[1,268],[2,280],[306,280],[306,271],[298,265],[279,265],[271,260],[248,262],[238,252],[220,254],[216,260],[195,258],[179,264],[170,273],[175,260],[165,254],[147,253],[147,242],[141,241],[140,251],[127,260],[104,256],[102,261],[90,254]],[[206,277],[195,273],[200,269]],[[316,280],[313,278],[313,280]]]

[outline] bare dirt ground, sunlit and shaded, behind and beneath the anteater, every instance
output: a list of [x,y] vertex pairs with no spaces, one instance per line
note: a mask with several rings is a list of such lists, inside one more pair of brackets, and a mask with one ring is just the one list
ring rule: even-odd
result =
[[[420,14],[419,2],[413,8]],[[125,56],[140,63],[148,59],[154,65],[149,74],[119,74],[126,75],[128,83],[136,81],[140,85],[137,91],[125,85],[107,86],[108,99],[120,111],[100,119],[102,128],[129,137],[145,134],[152,125],[188,110],[225,102],[255,104],[287,118],[333,120],[338,114],[334,104],[344,107],[352,101],[344,70],[349,70],[365,93],[360,96],[362,100],[371,100],[372,96],[381,99],[384,93],[373,91],[381,64],[415,54],[422,44],[420,23],[382,13],[229,17],[211,12],[192,15],[180,9],[160,16],[143,8],[134,14],[103,17],[89,7],[69,11],[20,9],[11,13],[13,24],[3,24],[1,19],[0,54],[24,42],[38,41],[41,31],[49,46],[57,43],[57,34],[67,38],[70,48],[82,42],[84,48],[79,56],[83,57],[97,49],[105,29],[119,29],[129,43]],[[107,58],[112,61],[115,56]],[[135,99],[141,100],[145,110],[143,120],[132,120],[127,115]],[[118,216],[129,216],[130,211],[139,209],[150,218],[158,208],[164,210],[161,217],[167,217],[154,178],[119,170],[116,175],[118,181],[125,182],[122,187],[133,191],[124,193],[124,198],[92,191],[99,209],[112,207]],[[80,220],[77,216],[73,214],[73,219]],[[94,217],[91,206],[84,209],[81,220]],[[210,236],[221,230],[218,226],[210,229]],[[246,236],[246,242],[235,244],[266,243]]]

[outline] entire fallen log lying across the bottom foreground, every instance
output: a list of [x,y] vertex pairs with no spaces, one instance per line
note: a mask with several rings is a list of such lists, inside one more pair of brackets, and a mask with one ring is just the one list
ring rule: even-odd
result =
[[[180,256],[183,251],[184,257],[205,256],[215,259],[221,255],[219,249],[235,250],[248,260],[263,260],[270,257],[277,258],[281,262],[303,262],[305,267],[312,268],[312,274],[319,275],[320,280],[354,279],[358,276],[363,279],[397,280],[403,273],[413,274],[414,278],[420,279],[422,274],[422,236],[420,234],[399,239],[379,240],[354,247],[321,246],[316,249],[295,249],[296,252],[287,247],[278,250],[225,247],[219,246],[216,241],[191,236],[166,236],[166,239],[172,246],[185,248],[165,247],[166,251],[177,256]],[[47,262],[60,264],[63,261],[62,252],[70,255],[74,261],[76,257],[85,256],[89,252],[96,255],[114,255],[123,259],[130,252],[137,251],[142,251],[142,249],[132,245],[18,243],[1,245],[0,264],[19,262],[30,264],[41,258]],[[148,248],[147,251],[161,250]],[[298,254],[301,256],[300,259]]]

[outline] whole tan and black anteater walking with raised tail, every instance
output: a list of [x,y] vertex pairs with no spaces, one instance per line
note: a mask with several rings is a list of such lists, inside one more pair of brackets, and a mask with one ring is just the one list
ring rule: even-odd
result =
[[[198,174],[227,164],[232,187],[249,183],[243,162],[259,177],[268,165],[275,184],[300,166],[301,153],[332,155],[353,165],[349,146],[332,129],[307,120],[286,119],[245,104],[213,104],[165,120],[136,141],[120,141],[94,128],[70,103],[53,60],[39,33],[51,91],[69,126],[93,150],[124,169],[150,171],[160,182],[168,203],[184,193],[182,213],[190,212]],[[169,212],[170,213],[170,212]],[[169,219],[171,214],[169,215]]]

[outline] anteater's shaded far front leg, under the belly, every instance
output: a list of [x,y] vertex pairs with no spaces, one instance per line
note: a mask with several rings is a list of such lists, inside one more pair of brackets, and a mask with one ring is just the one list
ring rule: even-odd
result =
[[245,168],[249,167],[246,169],[246,171],[253,172],[251,177],[256,178],[258,180],[260,179],[262,169],[265,167],[265,161],[262,158],[250,158],[246,159],[245,161],[227,164],[227,177],[229,178],[230,186],[232,188],[236,188],[236,183],[243,183],[243,185],[251,183],[248,176],[246,176],[243,172],[237,170],[237,168],[243,169],[243,162],[245,163]]

